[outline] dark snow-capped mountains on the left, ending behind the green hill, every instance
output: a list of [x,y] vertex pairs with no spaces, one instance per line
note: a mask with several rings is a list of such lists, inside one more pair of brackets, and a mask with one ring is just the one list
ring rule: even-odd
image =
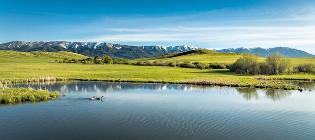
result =
[[129,46],[121,44],[111,44],[106,42],[67,42],[67,41],[12,41],[0,44],[0,50],[15,50],[15,51],[70,51],[86,56],[94,57],[96,55],[106,54],[111,58],[150,58],[164,55],[172,52],[185,52],[189,50],[200,49],[198,47],[182,45],[182,46]]

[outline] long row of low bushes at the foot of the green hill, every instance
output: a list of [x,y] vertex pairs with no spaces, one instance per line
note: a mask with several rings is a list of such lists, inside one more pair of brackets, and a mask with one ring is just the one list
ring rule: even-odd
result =
[[180,68],[193,68],[193,69],[229,69],[229,64],[221,64],[221,63],[200,63],[200,62],[193,62],[190,63],[189,61],[186,62],[149,62],[149,61],[138,61],[136,63],[132,63],[132,65],[138,66],[170,66],[170,67],[180,67]]

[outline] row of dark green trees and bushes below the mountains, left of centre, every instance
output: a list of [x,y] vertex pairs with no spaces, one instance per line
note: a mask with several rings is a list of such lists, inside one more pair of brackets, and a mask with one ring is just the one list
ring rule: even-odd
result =
[[[56,60],[56,62],[58,62]],[[99,57],[98,55],[94,58],[89,57],[86,59],[69,59],[64,58],[63,61],[59,61],[59,63],[83,63],[83,64],[130,64],[128,59],[112,59],[107,55],[102,55]]]

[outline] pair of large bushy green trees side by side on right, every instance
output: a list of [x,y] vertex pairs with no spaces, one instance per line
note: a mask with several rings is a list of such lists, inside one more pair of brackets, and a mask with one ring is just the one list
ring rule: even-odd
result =
[[258,56],[247,53],[231,65],[230,71],[248,74],[284,74],[290,71],[290,60],[279,53],[267,56],[265,62],[258,62]]

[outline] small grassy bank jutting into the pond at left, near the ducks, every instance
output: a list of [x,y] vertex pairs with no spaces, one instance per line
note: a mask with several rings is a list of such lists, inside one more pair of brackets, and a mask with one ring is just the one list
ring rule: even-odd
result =
[[59,98],[58,92],[32,88],[0,88],[0,103],[19,103]]

